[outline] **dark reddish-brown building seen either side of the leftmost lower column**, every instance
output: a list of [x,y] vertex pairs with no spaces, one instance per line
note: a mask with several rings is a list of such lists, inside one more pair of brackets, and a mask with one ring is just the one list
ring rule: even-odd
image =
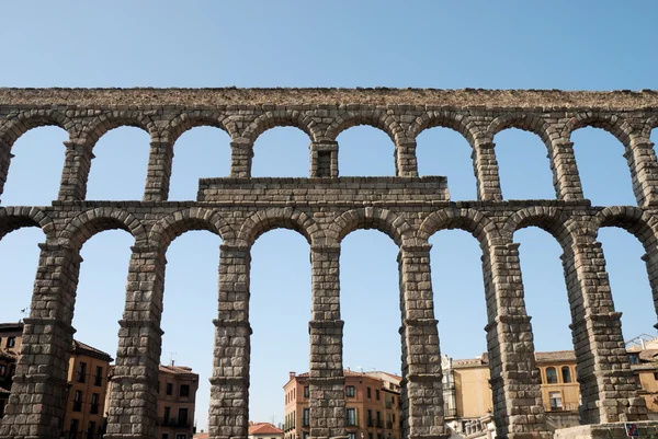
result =
[[[0,413],[11,391],[20,357],[23,323],[0,323]],[[109,354],[73,340],[68,367],[68,396],[63,424],[65,438],[100,438],[104,429]]]

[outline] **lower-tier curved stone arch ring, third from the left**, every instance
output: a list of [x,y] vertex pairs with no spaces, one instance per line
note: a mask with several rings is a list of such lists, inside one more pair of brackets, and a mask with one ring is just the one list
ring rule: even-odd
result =
[[234,241],[236,238],[230,224],[217,211],[190,207],[158,220],[150,230],[149,242],[166,250],[173,240],[191,230],[207,230],[223,241]]

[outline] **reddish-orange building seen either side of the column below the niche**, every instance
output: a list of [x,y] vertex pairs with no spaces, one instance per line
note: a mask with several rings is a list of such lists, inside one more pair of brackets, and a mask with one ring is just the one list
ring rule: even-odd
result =
[[[349,439],[401,439],[400,381],[387,372],[345,376],[345,432]],[[310,434],[308,373],[291,372],[285,394],[285,439],[306,439]]]

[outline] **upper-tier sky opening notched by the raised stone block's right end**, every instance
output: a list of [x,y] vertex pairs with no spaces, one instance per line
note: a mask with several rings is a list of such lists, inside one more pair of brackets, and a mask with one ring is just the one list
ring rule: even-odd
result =
[[460,132],[443,127],[423,130],[416,138],[418,175],[447,177],[452,201],[477,199],[473,148]]

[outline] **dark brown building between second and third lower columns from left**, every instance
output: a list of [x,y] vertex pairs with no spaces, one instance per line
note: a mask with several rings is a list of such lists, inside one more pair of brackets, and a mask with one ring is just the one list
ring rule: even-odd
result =
[[198,374],[185,366],[160,366],[158,372],[158,439],[192,439]]

